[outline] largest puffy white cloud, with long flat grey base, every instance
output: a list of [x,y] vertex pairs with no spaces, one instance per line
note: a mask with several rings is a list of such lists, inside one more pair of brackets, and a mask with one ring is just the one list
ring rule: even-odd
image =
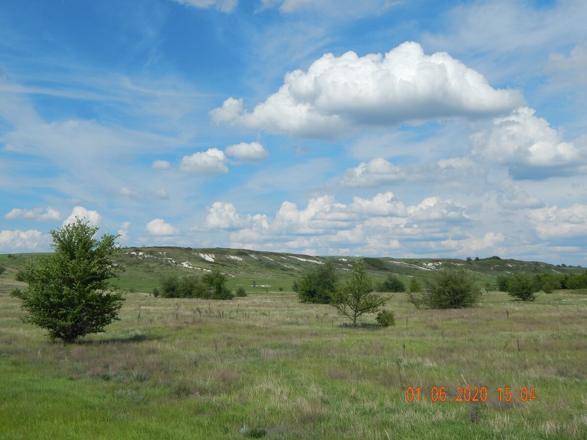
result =
[[216,123],[332,140],[352,128],[488,116],[523,103],[517,90],[493,89],[447,53],[428,56],[406,42],[384,56],[327,53],[308,72],[285,75],[278,92],[253,111],[231,97],[210,114]]

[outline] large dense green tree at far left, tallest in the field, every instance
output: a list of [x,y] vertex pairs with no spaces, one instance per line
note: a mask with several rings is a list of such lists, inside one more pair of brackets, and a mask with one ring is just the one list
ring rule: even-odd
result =
[[118,236],[97,240],[98,229],[76,218],[50,231],[55,252],[29,261],[21,271],[29,286],[12,291],[28,312],[22,320],[48,330],[51,339],[72,342],[120,319],[124,296],[107,282],[118,269],[110,260]]

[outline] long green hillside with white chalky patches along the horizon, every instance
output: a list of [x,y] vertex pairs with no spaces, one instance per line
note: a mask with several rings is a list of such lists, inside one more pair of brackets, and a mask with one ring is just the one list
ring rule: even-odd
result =
[[[0,266],[8,268],[6,277],[14,279],[16,271],[32,256],[38,254],[0,255]],[[350,272],[356,256],[309,256],[294,253],[250,251],[225,248],[130,247],[121,249],[114,263],[124,268],[116,284],[136,292],[151,292],[161,277],[169,273],[202,275],[220,269],[229,275],[231,289],[245,287],[248,292],[277,292],[281,287],[291,291],[292,282],[304,272],[326,261],[342,272]],[[446,266],[461,266],[477,275],[478,283],[493,285],[502,273],[577,273],[582,268],[554,266],[542,262],[521,260],[481,259],[396,259],[365,258],[370,275],[383,280],[387,275],[399,276],[406,282],[410,277],[424,279],[434,270]],[[5,290],[5,289],[2,289]]]

